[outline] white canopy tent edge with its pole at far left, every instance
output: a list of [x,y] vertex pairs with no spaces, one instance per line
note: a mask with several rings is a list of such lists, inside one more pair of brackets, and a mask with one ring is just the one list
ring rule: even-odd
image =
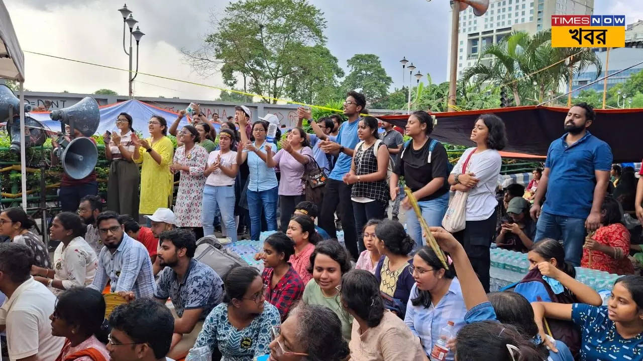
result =
[[0,78],[20,83],[20,164],[23,209],[27,209],[27,174],[24,150],[24,53],[15,36],[14,24],[4,1],[0,0]]

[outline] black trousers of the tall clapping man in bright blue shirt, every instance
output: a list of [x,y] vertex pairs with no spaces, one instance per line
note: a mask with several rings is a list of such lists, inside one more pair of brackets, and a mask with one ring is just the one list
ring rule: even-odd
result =
[[[337,231],[335,229],[335,216],[337,211],[341,218],[341,229],[344,231],[344,244],[350,252],[350,256],[354,260],[359,258],[357,233],[355,231],[355,219],[353,218],[353,205],[350,200],[350,189],[352,186],[347,186],[340,180],[328,179],[326,180],[326,189],[323,193],[323,201],[321,202],[319,226],[326,231],[331,238],[337,238]],[[341,204],[341,207],[338,206]]]

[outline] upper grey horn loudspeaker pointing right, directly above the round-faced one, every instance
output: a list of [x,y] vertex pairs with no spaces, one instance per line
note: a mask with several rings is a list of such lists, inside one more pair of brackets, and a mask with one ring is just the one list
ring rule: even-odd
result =
[[91,96],[86,96],[71,107],[53,110],[49,116],[60,121],[62,132],[65,132],[65,125],[69,125],[71,135],[74,134],[74,130],[79,130],[83,136],[91,137],[100,124],[98,103]]

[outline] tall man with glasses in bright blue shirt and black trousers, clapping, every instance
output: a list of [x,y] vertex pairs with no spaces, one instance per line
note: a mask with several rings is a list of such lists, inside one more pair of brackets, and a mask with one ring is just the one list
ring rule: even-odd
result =
[[[364,94],[349,91],[344,101],[344,115],[348,121],[341,123],[340,132],[337,134],[338,143],[321,141],[320,148],[329,154],[339,154],[337,163],[326,180],[319,225],[332,238],[337,238],[334,213],[338,211],[341,218],[341,228],[344,231],[344,244],[354,260],[359,257],[355,218],[353,205],[350,202],[350,189],[352,186],[345,184],[342,178],[350,171],[353,150],[359,142],[358,122],[359,114],[364,110],[366,98]],[[338,210],[338,206],[339,210]]]

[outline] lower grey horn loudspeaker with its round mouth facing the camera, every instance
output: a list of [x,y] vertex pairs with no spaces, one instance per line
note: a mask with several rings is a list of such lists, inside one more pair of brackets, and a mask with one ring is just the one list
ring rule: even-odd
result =
[[83,179],[91,173],[98,161],[98,149],[89,138],[69,142],[60,155],[62,169],[73,179]]

